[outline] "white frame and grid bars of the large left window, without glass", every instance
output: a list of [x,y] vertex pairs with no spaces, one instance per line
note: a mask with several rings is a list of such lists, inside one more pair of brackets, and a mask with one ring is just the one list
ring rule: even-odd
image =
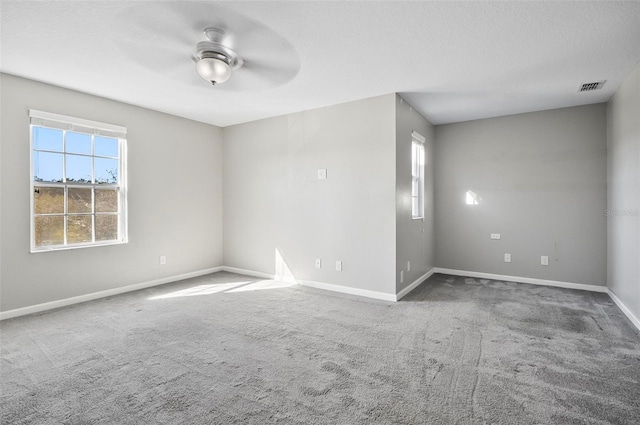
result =
[[[128,242],[128,225],[127,225],[127,129],[126,127],[114,125],[114,124],[106,124],[97,121],[85,120],[82,118],[74,118],[65,115],[53,114],[50,112],[38,111],[35,109],[29,110],[29,159],[30,159],[30,185],[29,185],[29,199],[30,199],[30,246],[32,253],[38,252],[50,252],[50,251],[59,251],[59,250],[68,250],[68,249],[77,249],[77,248],[89,248],[96,246],[107,246],[107,245],[119,245]],[[34,179],[34,140],[33,133],[35,127],[42,128],[51,128],[55,130],[62,130],[63,132],[63,149],[61,153],[63,155],[63,181],[58,182],[41,182],[36,181]],[[119,161],[119,173],[118,173],[118,182],[117,183],[96,183],[92,181],[91,183],[82,183],[82,182],[67,182],[66,180],[66,169],[64,163],[66,161],[67,153],[65,151],[65,141],[66,141],[66,132],[71,131],[74,133],[84,133],[91,136],[91,154],[78,154],[79,156],[88,156],[92,158],[91,168],[92,168],[92,179],[95,178],[94,172],[94,158],[101,158],[101,156],[94,155],[93,150],[93,139],[96,136],[109,137],[118,140],[118,161]],[[44,151],[46,150],[38,150]],[[76,155],[75,153],[73,155]],[[107,158],[107,157],[105,157]],[[111,157],[111,159],[113,159]],[[65,193],[65,202],[64,202],[64,211],[62,214],[52,214],[56,216],[64,217],[64,241],[63,244],[60,245],[46,245],[46,246],[36,246],[35,240],[35,217],[40,216],[35,213],[35,201],[34,201],[34,192],[36,187],[55,187],[64,189]],[[74,188],[83,188],[83,189],[92,189],[92,206],[91,206],[91,223],[92,223],[92,241],[91,242],[83,242],[83,243],[68,243],[67,242],[67,217],[73,216],[74,214],[70,214],[68,212],[68,203],[67,203],[67,193],[69,189]],[[95,217],[100,214],[95,211],[95,191],[101,189],[116,189],[118,193],[118,211],[116,212],[118,216],[118,237],[115,240],[109,241],[96,241],[95,240]],[[105,213],[108,214],[108,213]],[[89,215],[88,213],[83,213],[83,215]]]

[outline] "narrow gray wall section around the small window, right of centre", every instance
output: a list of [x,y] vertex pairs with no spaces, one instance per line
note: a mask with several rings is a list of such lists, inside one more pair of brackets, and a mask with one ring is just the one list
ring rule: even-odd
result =
[[[425,142],[425,218],[411,219],[411,132]],[[400,96],[396,96],[396,288],[413,283],[435,266],[434,129]],[[411,262],[408,270],[407,262]],[[400,272],[404,271],[404,282]]]

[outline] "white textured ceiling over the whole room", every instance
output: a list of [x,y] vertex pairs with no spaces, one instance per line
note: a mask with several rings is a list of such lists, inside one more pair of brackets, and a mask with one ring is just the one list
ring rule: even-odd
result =
[[[218,126],[392,92],[434,124],[604,102],[640,61],[638,1],[0,5],[2,72]],[[264,75],[200,79],[212,24]]]

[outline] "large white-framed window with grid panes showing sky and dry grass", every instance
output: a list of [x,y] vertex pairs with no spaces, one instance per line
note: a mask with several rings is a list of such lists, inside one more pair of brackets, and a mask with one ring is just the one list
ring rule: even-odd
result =
[[29,116],[31,252],[127,242],[127,129]]

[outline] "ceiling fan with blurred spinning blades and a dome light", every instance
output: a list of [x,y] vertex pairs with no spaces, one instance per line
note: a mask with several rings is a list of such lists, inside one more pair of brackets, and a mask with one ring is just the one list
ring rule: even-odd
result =
[[[260,91],[291,81],[300,70],[285,38],[220,4],[144,2],[121,18],[127,25],[115,41],[126,55],[161,78],[194,88],[202,87],[199,75],[216,91]],[[194,40],[203,32],[204,40]]]

